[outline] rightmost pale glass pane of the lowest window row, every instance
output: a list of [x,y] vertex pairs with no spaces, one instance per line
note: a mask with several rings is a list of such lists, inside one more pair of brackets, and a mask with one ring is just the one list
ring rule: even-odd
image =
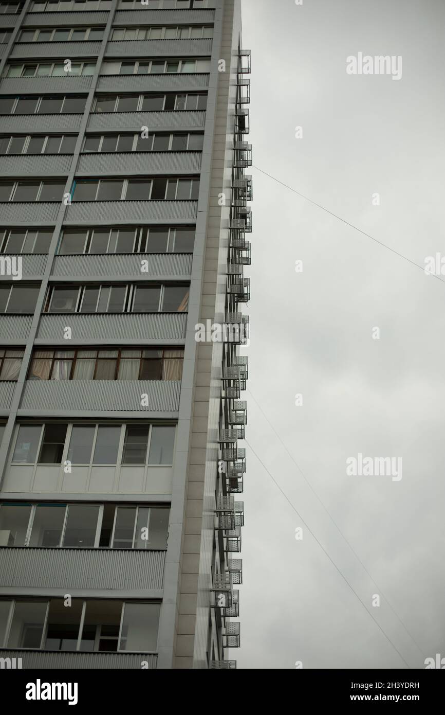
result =
[[125,603],[120,651],[156,651],[160,603]]

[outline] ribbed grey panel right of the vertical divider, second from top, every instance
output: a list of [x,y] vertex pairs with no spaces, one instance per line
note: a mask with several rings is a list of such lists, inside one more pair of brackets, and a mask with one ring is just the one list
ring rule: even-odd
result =
[[211,54],[211,39],[111,40],[106,57],[176,57]]

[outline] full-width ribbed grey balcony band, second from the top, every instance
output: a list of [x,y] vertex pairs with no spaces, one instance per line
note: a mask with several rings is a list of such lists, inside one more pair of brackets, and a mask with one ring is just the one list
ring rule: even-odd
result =
[[[204,56],[211,54],[211,43],[211,39],[111,40],[106,44],[105,57]],[[100,49],[101,41],[99,40],[92,42],[88,40],[76,42],[16,42],[9,59],[89,58],[98,56]]]

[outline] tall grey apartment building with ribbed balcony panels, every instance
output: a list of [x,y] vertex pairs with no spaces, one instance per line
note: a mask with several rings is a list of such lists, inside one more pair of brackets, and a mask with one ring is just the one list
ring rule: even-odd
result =
[[0,11],[2,666],[234,668],[240,2]]

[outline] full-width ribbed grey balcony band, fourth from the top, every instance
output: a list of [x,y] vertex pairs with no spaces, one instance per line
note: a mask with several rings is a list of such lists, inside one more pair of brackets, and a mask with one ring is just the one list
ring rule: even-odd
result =
[[[83,114],[2,114],[0,130],[32,134],[36,132],[78,132]],[[156,130],[193,131],[204,129],[206,112],[98,112],[89,114],[87,131],[124,130],[140,132],[141,127]]]

